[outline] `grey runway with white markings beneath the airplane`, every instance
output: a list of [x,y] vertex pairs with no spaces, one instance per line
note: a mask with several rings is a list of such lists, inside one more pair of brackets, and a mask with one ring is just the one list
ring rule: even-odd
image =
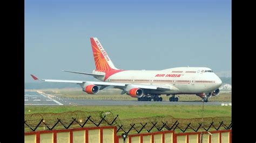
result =
[[[153,101],[110,101],[94,99],[71,99],[47,95],[43,92],[25,92],[25,105],[202,105],[202,102],[153,102]],[[207,102],[204,105],[228,104],[228,102]]]

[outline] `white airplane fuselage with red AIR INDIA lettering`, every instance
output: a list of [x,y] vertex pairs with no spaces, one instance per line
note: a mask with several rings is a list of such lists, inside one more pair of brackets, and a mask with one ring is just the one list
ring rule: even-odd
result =
[[[97,78],[101,81],[104,80],[104,77]],[[212,92],[218,89],[222,83],[220,78],[210,68],[204,67],[178,67],[164,70],[124,70],[109,76],[105,79],[105,82],[170,86],[170,90],[166,91],[145,91],[149,94],[200,94]]]

